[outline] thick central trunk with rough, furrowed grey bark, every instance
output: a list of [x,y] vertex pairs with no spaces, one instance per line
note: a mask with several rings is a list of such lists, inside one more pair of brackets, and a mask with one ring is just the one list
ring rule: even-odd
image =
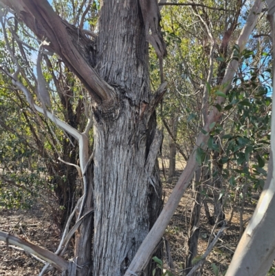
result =
[[94,107],[94,276],[124,275],[162,206],[147,49],[138,1],[102,1],[97,67],[117,99]]

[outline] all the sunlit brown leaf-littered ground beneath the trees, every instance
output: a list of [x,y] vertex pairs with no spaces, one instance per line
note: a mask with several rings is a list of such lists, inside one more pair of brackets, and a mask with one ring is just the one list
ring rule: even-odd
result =
[[[184,164],[177,162],[177,175],[175,180],[181,173]],[[165,201],[175,186],[173,184],[164,184]],[[190,211],[192,207],[192,198],[190,191],[184,195],[177,208],[173,219],[170,221],[164,237],[170,245],[170,252],[175,265],[175,275],[181,275],[184,256],[186,255],[186,241],[188,238],[188,221],[190,219]],[[253,213],[254,206],[245,206],[245,220],[247,224]],[[212,206],[209,206],[212,211]],[[202,209],[203,210],[203,209]],[[230,217],[230,209],[225,211],[226,218]],[[58,247],[60,233],[52,221],[50,212],[43,208],[43,205],[37,204],[30,210],[5,210],[0,209],[0,230],[25,237],[35,244],[43,246],[54,252]],[[198,255],[202,255],[206,250],[208,237],[212,230],[212,226],[207,223],[206,217],[201,213],[201,226],[199,236]],[[219,229],[215,231],[217,233]],[[239,239],[239,213],[235,212],[232,223],[228,224],[219,242],[208,256],[206,264],[203,266],[202,275],[214,275],[211,264],[216,264],[219,268],[219,275],[226,270],[230,264],[230,259],[234,253],[234,249]],[[164,267],[165,264],[164,258]],[[34,276],[39,275],[43,264],[28,253],[20,251],[19,248],[9,246],[5,242],[0,242],[0,276],[18,275],[18,276]],[[56,271],[52,271],[45,275],[60,275]]]

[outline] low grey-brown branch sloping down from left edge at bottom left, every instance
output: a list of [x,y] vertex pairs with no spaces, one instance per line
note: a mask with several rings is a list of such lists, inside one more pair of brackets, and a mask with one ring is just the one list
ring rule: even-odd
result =
[[0,231],[0,240],[6,242],[7,244],[13,244],[15,246],[23,248],[26,252],[36,255],[49,264],[52,264],[52,266],[57,268],[59,271],[66,271],[69,266],[69,262],[67,262],[62,257],[59,257],[51,251],[48,251],[41,246],[37,246],[36,244],[29,242],[28,240],[22,239],[21,237],[16,237],[10,233]]

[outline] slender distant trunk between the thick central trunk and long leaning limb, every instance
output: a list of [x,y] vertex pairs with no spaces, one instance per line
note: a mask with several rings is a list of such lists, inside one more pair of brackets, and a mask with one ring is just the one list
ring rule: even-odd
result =
[[[170,126],[173,138],[177,139],[177,125],[179,123],[179,117],[176,116],[175,118],[170,119]],[[173,182],[173,176],[175,176],[175,170],[176,170],[176,153],[177,153],[177,147],[175,145],[175,142],[173,142],[173,139],[169,136],[169,170],[168,170],[168,183]]]

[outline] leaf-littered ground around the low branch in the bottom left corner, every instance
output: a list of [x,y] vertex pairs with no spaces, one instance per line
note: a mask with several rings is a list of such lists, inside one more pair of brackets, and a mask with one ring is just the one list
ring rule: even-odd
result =
[[[59,231],[50,213],[39,204],[31,210],[1,210],[0,230],[24,237],[53,252],[58,247]],[[0,276],[34,276],[39,275],[42,268],[43,264],[30,254],[15,246],[7,248],[5,242],[0,242]]]

